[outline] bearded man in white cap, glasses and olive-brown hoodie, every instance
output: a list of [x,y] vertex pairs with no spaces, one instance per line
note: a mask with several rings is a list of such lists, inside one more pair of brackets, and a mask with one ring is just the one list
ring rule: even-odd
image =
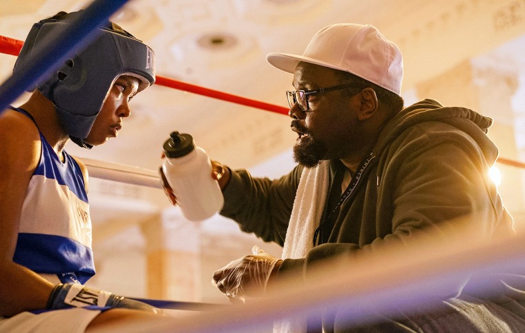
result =
[[[452,238],[469,240],[513,234],[513,219],[486,176],[497,158],[486,136],[492,120],[432,99],[403,108],[401,52],[376,28],[327,26],[302,56],[271,53],[267,60],[294,74],[287,99],[298,165],[276,180],[224,167],[221,214],[283,245],[283,258],[259,252],[218,270],[213,279],[227,296],[255,296],[289,276],[308,279],[314,264],[335,256],[351,266],[356,254],[388,252],[419,234],[452,232]],[[447,229],[460,218],[477,234]],[[383,317],[366,331],[524,330],[525,319],[516,314],[524,308],[512,299],[523,299],[521,281],[500,283],[504,301],[490,306],[449,299],[465,283],[457,281],[450,294],[439,295],[439,309]],[[323,318],[325,332],[355,328],[344,315],[332,315]],[[278,330],[306,326],[283,322]]]

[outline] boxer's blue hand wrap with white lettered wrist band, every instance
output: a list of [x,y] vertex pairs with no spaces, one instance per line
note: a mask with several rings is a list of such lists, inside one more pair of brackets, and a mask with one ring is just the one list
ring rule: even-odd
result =
[[55,286],[48,299],[48,309],[66,309],[68,307],[121,307],[126,309],[142,310],[153,314],[164,315],[158,307],[117,296],[104,290],[85,287],[79,283],[60,283]]

